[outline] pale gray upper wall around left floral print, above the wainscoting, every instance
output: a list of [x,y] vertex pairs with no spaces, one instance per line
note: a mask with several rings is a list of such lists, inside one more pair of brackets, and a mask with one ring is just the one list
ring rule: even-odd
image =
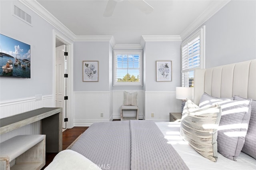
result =
[[[99,81],[82,81],[82,61],[99,61]],[[74,91],[109,91],[109,42],[74,42]]]

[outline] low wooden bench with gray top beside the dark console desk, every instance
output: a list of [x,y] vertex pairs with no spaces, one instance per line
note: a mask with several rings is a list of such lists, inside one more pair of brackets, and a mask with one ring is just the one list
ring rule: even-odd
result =
[[0,143],[0,169],[40,170],[45,165],[45,137],[18,135]]

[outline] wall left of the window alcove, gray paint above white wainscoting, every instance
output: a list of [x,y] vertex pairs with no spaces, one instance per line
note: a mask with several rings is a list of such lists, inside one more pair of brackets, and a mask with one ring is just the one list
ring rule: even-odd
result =
[[[110,119],[110,53],[109,42],[74,42],[74,126]],[[82,81],[82,61],[99,61],[98,82]]]

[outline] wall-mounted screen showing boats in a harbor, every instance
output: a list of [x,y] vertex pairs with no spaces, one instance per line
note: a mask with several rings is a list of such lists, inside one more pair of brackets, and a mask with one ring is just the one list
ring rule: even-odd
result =
[[30,45],[0,34],[0,76],[30,78]]

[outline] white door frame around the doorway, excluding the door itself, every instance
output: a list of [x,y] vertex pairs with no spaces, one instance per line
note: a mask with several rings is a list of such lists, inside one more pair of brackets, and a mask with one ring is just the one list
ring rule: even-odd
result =
[[[67,57],[67,73],[68,73],[68,78],[66,81],[67,84],[67,91],[66,91],[66,96],[68,96],[68,100],[66,102],[66,117],[68,118],[68,122],[66,122],[66,128],[73,128],[74,127],[74,105],[73,105],[73,41],[71,39],[68,39],[66,36],[63,34],[60,34],[60,32],[56,31],[53,29],[52,31],[52,42],[53,42],[53,85],[52,85],[52,92],[53,92],[53,97],[54,100],[53,102],[55,103],[55,55],[56,55],[56,50],[55,50],[55,44],[56,44],[56,38],[66,44],[66,51],[68,52],[68,57]],[[64,76],[64,75],[63,75]],[[55,105],[55,104],[54,104]]]

